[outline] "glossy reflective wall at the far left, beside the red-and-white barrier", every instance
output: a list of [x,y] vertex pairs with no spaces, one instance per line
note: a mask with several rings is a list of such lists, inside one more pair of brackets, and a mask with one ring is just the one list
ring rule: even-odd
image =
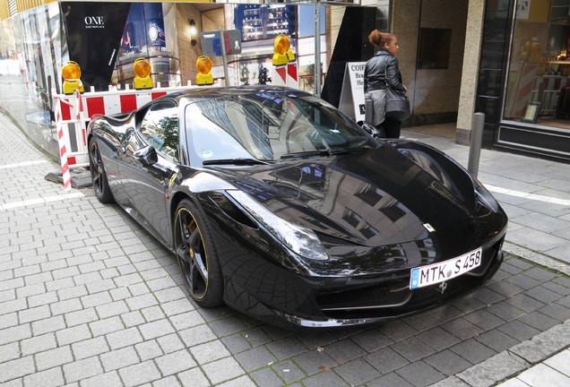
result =
[[[0,107],[33,142],[59,157],[52,124],[52,90],[61,90],[61,25],[57,3],[42,5],[0,23]],[[74,144],[72,144],[72,147]]]

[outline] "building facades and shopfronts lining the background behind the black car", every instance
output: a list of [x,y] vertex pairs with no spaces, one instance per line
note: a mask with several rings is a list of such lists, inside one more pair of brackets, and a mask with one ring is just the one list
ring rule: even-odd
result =
[[338,106],[345,66],[374,55],[367,35],[376,28],[399,38],[412,105],[404,126],[456,123],[455,141],[468,144],[472,116],[482,112],[485,148],[570,160],[568,1],[318,4],[317,12],[315,4],[295,1],[0,0],[0,109],[56,158],[52,94],[61,91],[63,64],[80,64],[87,91],[125,88],[141,56],[151,61],[155,85],[186,86],[205,48],[201,33],[216,30],[238,30],[242,39],[239,55],[225,63],[212,57],[216,82],[271,83],[272,39],[285,33],[299,88]]

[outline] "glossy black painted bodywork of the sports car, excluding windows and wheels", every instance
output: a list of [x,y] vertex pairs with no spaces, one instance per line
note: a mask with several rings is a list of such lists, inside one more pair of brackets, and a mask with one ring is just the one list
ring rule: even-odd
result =
[[[185,117],[189,104],[220,95],[304,95],[281,88],[188,90],[168,100]],[[256,94],[256,95],[257,95]],[[191,165],[194,117],[178,123],[176,159],[158,151],[139,112],[96,117],[108,184],[125,211],[170,250],[177,204],[198,206],[218,251],[225,302],[285,327],[380,323],[435,307],[478,288],[497,271],[505,212],[469,173],[419,142],[378,140],[374,147],[271,163]],[[263,105],[263,104],[262,104]],[[369,135],[362,130],[362,136]],[[364,137],[363,137],[364,138]],[[227,190],[240,190],[281,219],[311,229],[329,259],[295,254]],[[428,231],[426,224],[435,231]],[[483,248],[481,266],[437,286],[410,290],[410,269]]]

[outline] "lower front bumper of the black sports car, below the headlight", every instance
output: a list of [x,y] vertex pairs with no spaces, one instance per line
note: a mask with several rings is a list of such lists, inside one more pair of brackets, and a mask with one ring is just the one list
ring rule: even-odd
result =
[[[238,283],[226,291],[226,302],[266,323],[287,329],[333,328],[385,323],[418,314],[462,297],[482,286],[504,259],[503,238],[484,249],[485,264],[476,271],[426,288],[411,290],[410,271],[394,272],[389,279],[302,279],[273,268],[261,283]],[[275,275],[280,272],[281,275]],[[263,280],[264,279],[264,280]],[[261,287],[257,287],[258,285]]]

